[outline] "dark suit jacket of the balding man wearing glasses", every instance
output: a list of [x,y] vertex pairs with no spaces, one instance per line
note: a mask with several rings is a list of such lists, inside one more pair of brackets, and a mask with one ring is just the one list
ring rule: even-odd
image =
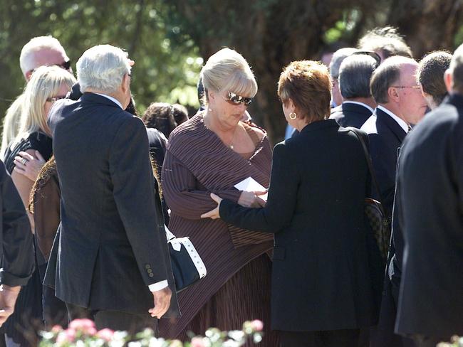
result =
[[[381,203],[390,217],[394,203],[397,149],[402,145],[407,133],[389,114],[378,108],[360,129],[368,134],[373,169],[383,198]],[[372,195],[379,200],[375,189]]]

